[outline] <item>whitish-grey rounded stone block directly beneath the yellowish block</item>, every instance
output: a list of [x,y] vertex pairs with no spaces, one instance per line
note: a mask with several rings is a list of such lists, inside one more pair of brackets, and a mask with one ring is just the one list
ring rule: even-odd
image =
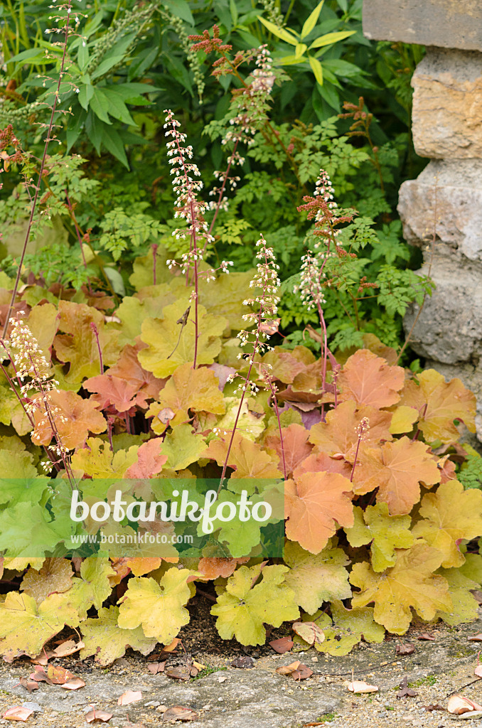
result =
[[400,187],[398,213],[413,245],[426,248],[435,232],[438,254],[482,261],[482,159],[430,162]]

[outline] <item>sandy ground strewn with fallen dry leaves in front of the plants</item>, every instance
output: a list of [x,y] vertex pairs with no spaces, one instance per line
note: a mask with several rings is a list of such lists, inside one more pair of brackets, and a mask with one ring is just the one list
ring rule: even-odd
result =
[[[87,728],[102,725],[86,722],[85,714],[93,707],[113,713],[104,724],[111,728],[129,728],[136,723],[151,728],[167,724],[162,719],[166,708],[183,705],[197,713],[197,719],[189,723],[193,728],[301,728],[318,723],[331,728],[448,728],[455,725],[454,720],[462,724],[466,719],[425,707],[446,708],[454,692],[482,703],[482,681],[474,675],[478,643],[467,640],[482,631],[482,612],[478,621],[469,625],[421,625],[403,637],[388,636],[382,644],[361,643],[346,657],[325,656],[315,649],[277,655],[267,645],[243,648],[234,641],[222,641],[209,616],[208,601],[197,599],[197,617],[181,633],[187,654],[208,668],[197,678],[178,682],[162,673],[152,675],[149,660],[133,652],[106,669],[95,666],[92,658],[79,662],[72,655],[55,664],[82,677],[84,688],[71,692],[40,683],[39,689],[29,694],[18,680],[28,677],[33,666],[22,658],[10,665],[0,664],[0,716],[14,705],[28,705],[35,711],[26,722],[28,726]],[[418,639],[427,632],[433,641]],[[269,639],[285,633],[283,628],[273,630]],[[70,632],[66,636],[71,636]],[[413,654],[396,654],[400,644],[414,645]],[[245,655],[253,658],[253,668],[231,666],[234,658]],[[293,660],[308,665],[312,677],[296,682],[274,672]],[[379,692],[349,693],[347,681],[352,671],[355,679],[378,686]],[[397,696],[405,676],[417,693],[414,697]],[[142,700],[117,705],[126,690],[141,691]],[[479,720],[474,716],[472,724],[482,726]],[[0,724],[9,721],[0,719]]]

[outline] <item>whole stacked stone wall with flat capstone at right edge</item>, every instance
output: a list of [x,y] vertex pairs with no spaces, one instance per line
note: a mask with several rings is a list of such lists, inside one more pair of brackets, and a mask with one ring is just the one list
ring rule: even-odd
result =
[[363,32],[427,46],[412,130],[431,161],[401,186],[398,211],[437,288],[405,327],[416,321],[411,346],[427,366],[473,389],[482,441],[482,0],[364,0]]

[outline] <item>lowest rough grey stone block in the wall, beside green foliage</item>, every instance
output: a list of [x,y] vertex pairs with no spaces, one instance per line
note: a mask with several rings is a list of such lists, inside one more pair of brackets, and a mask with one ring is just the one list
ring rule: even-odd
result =
[[[429,264],[419,271],[428,274]],[[430,271],[437,288],[426,298],[422,313],[411,304],[403,321],[417,354],[435,362],[476,366],[482,358],[482,266],[435,254]],[[435,367],[438,368],[438,367]],[[482,370],[479,369],[482,380]]]

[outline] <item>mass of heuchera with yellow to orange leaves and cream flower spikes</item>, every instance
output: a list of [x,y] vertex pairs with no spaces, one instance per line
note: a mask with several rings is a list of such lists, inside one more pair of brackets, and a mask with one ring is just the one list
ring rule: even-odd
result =
[[[355,253],[339,244],[351,213],[336,207],[323,170],[304,199],[315,243],[299,288],[320,317],[320,357],[271,347],[273,251],[260,231],[256,272],[205,264],[211,231],[193,152],[170,111],[166,124],[185,223],[174,233],[186,244],[178,258],[167,265],[157,248],[138,258],[135,293],[120,304],[92,285],[29,278],[19,288],[20,275],[0,274],[0,576],[17,586],[0,597],[0,654],[36,657],[65,625],[82,633],[80,657],[99,665],[127,646],[149,654],[189,623],[186,606],[211,581],[219,634],[245,645],[264,643],[264,625],[300,618],[320,628],[315,647],[328,654],[347,654],[362,635],[403,634],[414,618],[473,620],[482,493],[464,489],[457,467],[461,432],[475,429],[474,395],[459,379],[405,370],[375,336],[355,352],[331,352],[323,290]],[[224,189],[228,177],[229,167]],[[112,486],[130,502],[157,501],[163,482],[188,479],[195,498],[205,478],[229,502],[240,479],[283,482],[283,559],[261,558],[264,535],[251,523],[241,534],[215,523],[221,556],[207,539],[200,558],[183,545],[162,557],[109,548],[68,558],[73,489],[86,501],[111,499]],[[31,513],[40,525],[25,533]],[[103,530],[92,518],[87,528]],[[162,529],[170,532],[143,525]],[[31,556],[46,534],[55,547]]]

